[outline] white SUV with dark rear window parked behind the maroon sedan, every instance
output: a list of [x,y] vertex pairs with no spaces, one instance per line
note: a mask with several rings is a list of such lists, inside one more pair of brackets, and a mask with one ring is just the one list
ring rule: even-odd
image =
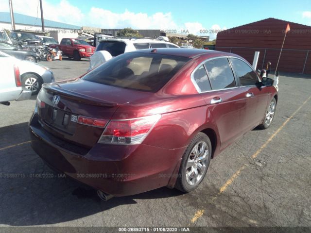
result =
[[[118,56],[125,52],[135,50],[144,50],[152,48],[179,48],[177,45],[165,41],[163,39],[153,38],[133,38],[133,37],[116,37],[111,39],[101,40],[96,48],[94,55],[90,57],[89,68],[91,70],[103,63],[106,54],[100,54],[100,51],[108,51],[112,57]],[[103,56],[103,58],[101,58]]]

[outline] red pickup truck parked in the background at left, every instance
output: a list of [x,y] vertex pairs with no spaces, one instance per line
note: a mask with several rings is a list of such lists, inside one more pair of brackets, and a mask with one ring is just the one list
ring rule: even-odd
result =
[[63,38],[59,45],[52,45],[52,48],[58,47],[63,55],[79,61],[81,58],[90,57],[95,52],[95,47],[90,46],[85,40]]

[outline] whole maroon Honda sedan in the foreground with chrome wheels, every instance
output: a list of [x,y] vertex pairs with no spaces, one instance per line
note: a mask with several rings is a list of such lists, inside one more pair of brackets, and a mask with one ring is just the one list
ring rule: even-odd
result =
[[211,50],[128,52],[42,87],[29,123],[33,149],[104,200],[194,190],[211,158],[270,126],[277,102],[273,80]]

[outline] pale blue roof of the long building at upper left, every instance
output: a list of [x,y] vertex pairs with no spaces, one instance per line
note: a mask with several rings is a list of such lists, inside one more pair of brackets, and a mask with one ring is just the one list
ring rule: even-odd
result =
[[[24,24],[29,26],[41,27],[41,18],[32,16],[26,16],[18,13],[14,13],[14,20],[16,24]],[[9,12],[0,12],[0,22],[11,23],[11,17]],[[44,26],[49,28],[64,28],[64,29],[80,29],[80,26],[71,25],[67,23],[60,23],[48,19],[44,19]]]

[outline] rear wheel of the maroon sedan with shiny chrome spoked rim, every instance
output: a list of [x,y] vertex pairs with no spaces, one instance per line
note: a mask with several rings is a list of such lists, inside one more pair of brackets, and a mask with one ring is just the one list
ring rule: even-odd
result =
[[[196,147],[198,147],[197,152],[195,152]],[[203,150],[203,153],[200,150]],[[196,189],[207,173],[211,153],[212,146],[208,136],[205,133],[198,133],[184,152],[175,188],[185,193]],[[196,154],[199,157],[196,157]],[[198,159],[200,157],[201,160]]]

